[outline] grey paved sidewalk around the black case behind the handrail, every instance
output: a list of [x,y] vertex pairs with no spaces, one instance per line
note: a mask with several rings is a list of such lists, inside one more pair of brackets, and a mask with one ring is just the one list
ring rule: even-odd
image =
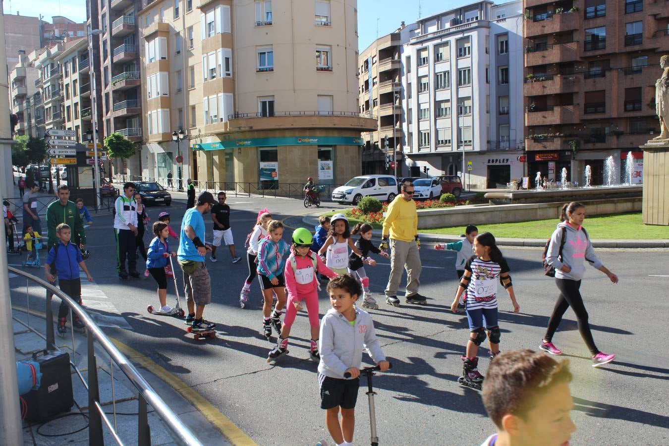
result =
[[[45,348],[45,340],[37,334],[27,330],[25,326],[19,324],[17,320],[27,324],[28,315],[18,309],[13,308],[12,316],[14,318],[14,345],[16,349],[16,360],[30,358],[32,352],[39,352]],[[29,325],[33,330],[45,334],[45,320],[35,312],[29,316]],[[69,327],[68,327],[69,328]],[[84,378],[88,379],[86,370],[86,336],[82,334],[74,335],[74,349],[72,348],[72,335],[68,330],[65,338],[56,336],[56,345],[60,350],[70,354],[70,360],[76,364],[82,372]],[[117,344],[118,345],[118,344]],[[137,444],[137,417],[138,410],[137,392],[130,380],[114,364],[113,370],[110,368],[110,362],[104,351],[97,348],[96,356],[98,358],[98,382],[100,388],[100,401],[108,417],[113,423],[116,423],[116,429],[119,437],[125,444]],[[196,433],[199,441],[205,445],[229,445],[221,431],[209,423],[200,413],[197,407],[191,405],[189,401],[181,397],[171,386],[155,376],[147,368],[135,364],[142,376],[151,384],[153,389],[161,396],[163,401],[179,415],[179,418],[185,423],[191,431]],[[112,380],[113,374],[113,380]],[[80,414],[88,413],[88,392],[80,380],[79,376],[72,370],[72,388],[74,393],[74,406],[70,414],[65,417],[50,421],[47,423],[23,423],[23,444],[24,445],[62,445],[70,444],[76,446],[88,445],[88,419]],[[113,393],[112,393],[113,389]],[[114,421],[112,401],[116,401],[116,421]],[[104,444],[115,444],[114,438],[106,428],[103,421]],[[153,413],[149,407],[149,425],[151,427],[152,445],[173,445],[176,444],[165,423]]]

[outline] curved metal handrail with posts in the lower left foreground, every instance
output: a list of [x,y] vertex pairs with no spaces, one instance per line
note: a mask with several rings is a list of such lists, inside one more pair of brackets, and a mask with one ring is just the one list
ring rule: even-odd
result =
[[[88,312],[82,308],[77,302],[72,300],[70,296],[53,286],[52,284],[41,280],[35,275],[26,273],[21,269],[8,266],[7,269],[16,275],[25,277],[27,280],[35,282],[35,284],[41,286],[46,290],[46,344],[47,350],[56,350],[56,340],[54,334],[54,314],[51,305],[51,300],[54,295],[58,296],[62,302],[65,302],[70,311],[76,316],[79,320],[84,323],[86,326],[86,340],[88,341],[88,382],[84,382],[84,377],[80,371],[75,367],[75,370],[79,378],[84,382],[86,388],[88,389],[88,420],[89,420],[89,431],[88,439],[90,444],[102,445],[104,444],[102,437],[102,421],[107,425],[107,427],[112,431],[114,439],[118,444],[119,442],[118,435],[116,431],[112,429],[112,423],[107,419],[102,406],[100,405],[100,391],[98,388],[98,369],[96,364],[96,356],[94,349],[94,340],[97,340],[100,346],[104,351],[109,355],[111,360],[116,362],[118,368],[128,377],[130,382],[135,386],[138,391],[138,401],[139,401],[139,410],[138,410],[138,444],[140,446],[151,445],[151,429],[149,428],[149,421],[147,419],[147,403],[153,407],[153,410],[163,419],[167,429],[172,433],[175,440],[182,445],[202,445],[195,434],[179,419],[179,416],[169,408],[169,406],[159,397],[158,393],[153,390],[151,384],[145,380],[142,375],[139,374],[137,369],[132,365],[130,360],[126,358],[124,354],[118,350],[118,348],[112,343],[112,341],[100,330],[100,327],[88,316]],[[74,364],[73,364],[74,365]],[[92,410],[93,408],[96,411]]]

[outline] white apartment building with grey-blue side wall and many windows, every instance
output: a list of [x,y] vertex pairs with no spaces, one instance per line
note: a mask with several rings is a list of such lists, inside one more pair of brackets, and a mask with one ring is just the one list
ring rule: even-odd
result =
[[402,33],[409,175],[467,175],[468,189],[523,174],[522,3],[480,1]]

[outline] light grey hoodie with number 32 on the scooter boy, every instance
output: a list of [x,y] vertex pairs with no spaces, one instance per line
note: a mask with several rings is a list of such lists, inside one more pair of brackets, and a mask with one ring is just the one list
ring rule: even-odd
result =
[[355,326],[340,312],[330,308],[320,321],[318,372],[330,378],[344,379],[347,368],[357,367],[363,360],[363,348],[375,363],[385,360],[374,322],[369,313],[355,308]]

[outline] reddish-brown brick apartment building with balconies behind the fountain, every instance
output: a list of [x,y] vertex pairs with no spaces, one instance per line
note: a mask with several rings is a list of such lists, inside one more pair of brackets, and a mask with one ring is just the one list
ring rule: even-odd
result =
[[[526,146],[529,175],[603,184],[658,134],[655,81],[669,52],[669,3],[662,0],[524,0]],[[619,169],[618,171],[623,171]]]

